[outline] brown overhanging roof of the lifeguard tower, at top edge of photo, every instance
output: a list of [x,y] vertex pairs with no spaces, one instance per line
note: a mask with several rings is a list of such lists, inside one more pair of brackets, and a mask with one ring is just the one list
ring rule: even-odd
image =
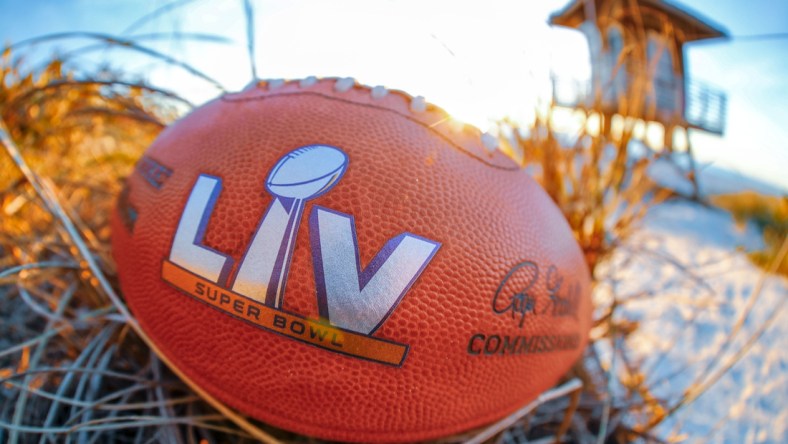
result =
[[[566,7],[550,15],[549,23],[553,25],[577,28],[586,20],[585,3],[587,0],[572,0]],[[659,11],[667,14],[673,25],[682,31],[685,42],[693,40],[703,40],[719,37],[727,37],[728,32],[720,25],[702,17],[697,12],[691,11],[685,6],[666,0],[636,0],[638,6],[652,11]],[[594,6],[599,11],[602,0],[594,0]],[[624,3],[626,6],[626,3]],[[644,26],[649,27],[649,22],[644,20]],[[652,27],[657,28],[657,23]]]

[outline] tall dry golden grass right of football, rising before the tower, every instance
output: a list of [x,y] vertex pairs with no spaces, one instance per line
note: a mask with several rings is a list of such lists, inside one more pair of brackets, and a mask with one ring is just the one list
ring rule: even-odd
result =
[[[580,407],[583,425],[596,434],[597,442],[658,441],[652,434],[654,427],[670,416],[672,408],[681,401],[659,399],[652,393],[645,369],[631,356],[629,337],[637,331],[638,323],[622,316],[621,307],[634,299],[658,298],[662,296],[661,291],[655,288],[637,295],[619,294],[615,278],[606,275],[607,271],[598,270],[614,252],[627,245],[650,208],[675,195],[658,186],[648,175],[649,168],[669,155],[672,146],[667,144],[665,151],[644,149],[647,145],[639,139],[637,131],[644,119],[654,120],[658,116],[656,62],[668,51],[664,42],[675,38],[675,29],[663,17],[660,21],[663,44],[649,55],[645,43],[647,32],[637,1],[597,2],[597,6],[603,29],[611,22],[626,20],[631,35],[629,43],[614,59],[610,77],[597,77],[590,100],[581,98],[577,108],[571,111],[580,121],[578,132],[565,134],[556,130],[556,115],[570,111],[553,103],[545,112],[537,112],[537,118],[528,127],[520,127],[510,120],[500,122],[501,144],[505,152],[532,172],[563,211],[585,253],[595,285],[609,288],[608,293],[612,295],[597,307],[595,343],[589,348],[580,371],[587,383],[588,396],[587,404]],[[627,79],[623,87],[618,80],[620,73]],[[611,95],[615,99],[612,104]],[[678,110],[664,121],[667,134],[680,122],[680,113]],[[618,128],[612,125],[614,119],[620,123]],[[694,182],[691,173],[688,179]],[[632,254],[642,253],[632,250]],[[697,281],[698,286],[705,285],[680,260],[665,260]],[[603,362],[597,354],[600,349],[607,350],[611,357]],[[612,386],[622,387],[624,394],[614,394]],[[641,423],[624,420],[627,417],[646,419]],[[576,436],[583,436],[579,429],[575,431]]]

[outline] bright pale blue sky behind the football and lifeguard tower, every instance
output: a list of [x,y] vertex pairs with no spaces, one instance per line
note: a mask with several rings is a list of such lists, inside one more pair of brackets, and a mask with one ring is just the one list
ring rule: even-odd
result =
[[[129,29],[170,3],[179,6]],[[261,78],[355,77],[365,84],[423,95],[459,120],[487,130],[504,116],[531,121],[534,110],[549,99],[551,71],[589,77],[584,37],[547,24],[550,13],[566,3],[252,0],[254,60]],[[680,4],[733,36],[685,48],[689,76],[722,89],[728,99],[722,137],[691,133],[697,158],[788,190],[788,38],[738,38],[788,33],[788,2]],[[140,42],[192,64],[229,90],[243,88],[252,78],[241,0],[0,0],[3,43],[64,31],[162,33],[163,38]],[[187,32],[221,35],[231,43],[178,35]],[[84,39],[60,40],[36,46],[35,54],[67,53],[89,44]],[[107,63],[197,103],[219,94],[177,67],[127,50],[73,56],[73,66],[87,72]]]

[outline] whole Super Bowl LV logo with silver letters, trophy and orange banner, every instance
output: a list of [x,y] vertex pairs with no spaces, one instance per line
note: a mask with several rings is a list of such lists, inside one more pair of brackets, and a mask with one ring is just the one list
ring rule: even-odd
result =
[[201,174],[183,209],[162,277],[259,328],[327,350],[401,365],[408,346],[372,335],[424,271],[438,242],[402,233],[362,268],[353,216],[313,205],[309,241],[320,319],[282,308],[304,204],[336,186],[347,167],[347,155],[326,145],[305,146],[282,157],[265,182],[273,200],[232,277],[233,258],[203,244],[222,180]]

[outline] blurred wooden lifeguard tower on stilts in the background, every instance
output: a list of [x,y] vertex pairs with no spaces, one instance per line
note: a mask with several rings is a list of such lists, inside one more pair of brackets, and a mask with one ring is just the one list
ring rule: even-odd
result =
[[727,37],[721,27],[665,0],[573,0],[549,22],[580,30],[591,56],[588,87],[566,94],[554,78],[557,105],[600,113],[607,131],[616,115],[662,124],[668,150],[677,128],[688,150],[688,128],[724,132],[725,94],[690,81],[684,58],[687,43]]

